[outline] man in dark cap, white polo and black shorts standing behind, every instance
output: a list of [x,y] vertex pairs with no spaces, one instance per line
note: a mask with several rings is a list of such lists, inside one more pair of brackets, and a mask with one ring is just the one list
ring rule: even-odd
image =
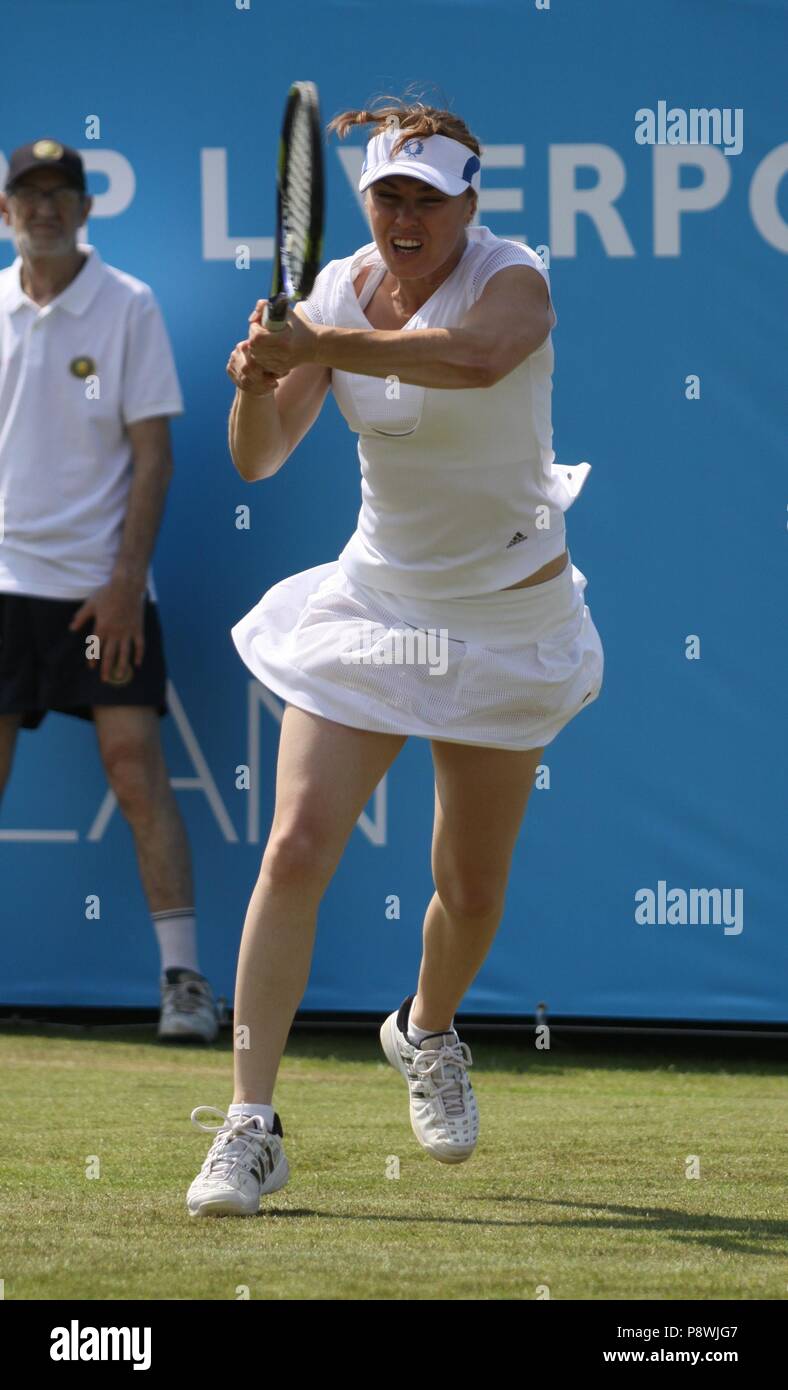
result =
[[19,727],[47,710],[93,720],[158,940],[158,1037],[210,1042],[149,567],[183,403],[150,286],[76,240],[90,206],[76,150],[14,150],[0,195],[18,250],[0,271],[0,795]]

